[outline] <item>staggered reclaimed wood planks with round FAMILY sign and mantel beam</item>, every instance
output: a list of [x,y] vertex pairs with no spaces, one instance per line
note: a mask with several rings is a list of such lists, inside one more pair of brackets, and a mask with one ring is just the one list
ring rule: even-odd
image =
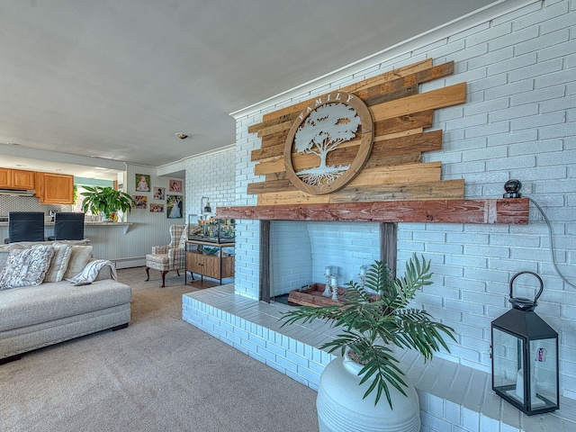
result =
[[[257,205],[219,207],[218,217],[527,224],[529,200],[464,200],[464,179],[442,180],[440,162],[421,161],[422,153],[442,148],[442,130],[428,130],[434,110],[464,103],[466,84],[426,93],[419,93],[419,85],[453,73],[454,62],[433,66],[428,58],[267,113],[248,127],[261,139],[250,157],[256,162],[255,174],[264,178],[247,185],[247,193],[257,194]],[[359,119],[346,110],[322,111],[337,100]],[[327,119],[331,130],[314,130]],[[314,132],[303,134],[303,142],[314,141],[315,151],[302,140],[297,143],[306,122]],[[341,132],[347,139],[336,145],[338,139],[326,139]],[[341,166],[349,172],[337,173],[336,181],[318,180],[337,176],[334,172]],[[302,181],[305,172],[316,177],[316,183]]]

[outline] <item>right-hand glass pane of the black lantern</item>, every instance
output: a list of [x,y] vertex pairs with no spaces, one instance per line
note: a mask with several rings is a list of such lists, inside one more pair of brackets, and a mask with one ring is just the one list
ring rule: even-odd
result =
[[532,409],[558,405],[556,339],[530,340],[529,353],[532,375],[536,378],[536,400],[532,400]]

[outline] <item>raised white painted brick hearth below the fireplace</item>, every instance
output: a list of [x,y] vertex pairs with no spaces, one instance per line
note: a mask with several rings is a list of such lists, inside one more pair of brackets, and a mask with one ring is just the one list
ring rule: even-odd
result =
[[[222,285],[183,295],[182,316],[193,326],[282,374],[318,390],[333,356],[319,347],[336,333],[328,324],[290,325],[279,319],[290,306],[258,302]],[[405,351],[401,367],[419,394],[422,432],[573,432],[576,403],[561,398],[561,410],[528,417],[491,391],[491,376],[435,357],[428,364]],[[266,383],[263,383],[266,385]]]

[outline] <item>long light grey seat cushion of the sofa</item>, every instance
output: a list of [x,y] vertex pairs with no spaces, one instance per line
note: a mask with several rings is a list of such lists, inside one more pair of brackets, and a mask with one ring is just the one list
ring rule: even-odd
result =
[[[47,286],[48,285],[48,286]],[[130,286],[112,279],[75,286],[67,281],[0,293],[0,332],[130,303]]]

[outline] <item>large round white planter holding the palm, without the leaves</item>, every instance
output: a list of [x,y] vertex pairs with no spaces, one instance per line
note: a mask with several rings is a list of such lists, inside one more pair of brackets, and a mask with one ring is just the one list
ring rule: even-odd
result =
[[316,408],[320,432],[419,432],[420,408],[414,386],[405,389],[408,397],[389,386],[391,410],[383,394],[374,406],[376,392],[362,399],[370,381],[358,385],[361,365],[345,355],[332,360],[320,376]]

